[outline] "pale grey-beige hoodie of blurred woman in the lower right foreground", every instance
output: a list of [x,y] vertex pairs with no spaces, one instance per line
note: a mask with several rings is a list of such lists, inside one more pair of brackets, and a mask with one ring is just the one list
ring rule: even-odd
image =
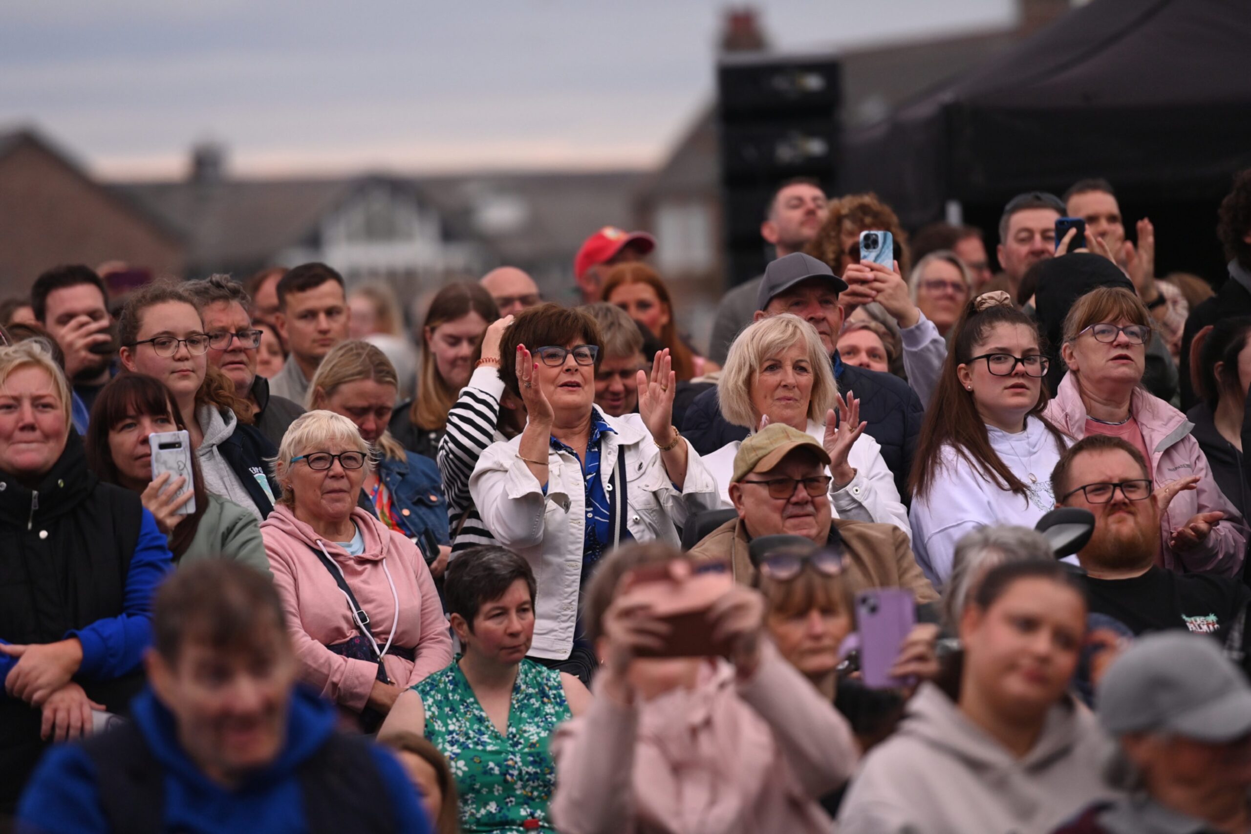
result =
[[933,684],[869,751],[838,814],[839,834],[1043,834],[1096,800],[1111,741],[1085,706],[1052,708],[1017,759]]

